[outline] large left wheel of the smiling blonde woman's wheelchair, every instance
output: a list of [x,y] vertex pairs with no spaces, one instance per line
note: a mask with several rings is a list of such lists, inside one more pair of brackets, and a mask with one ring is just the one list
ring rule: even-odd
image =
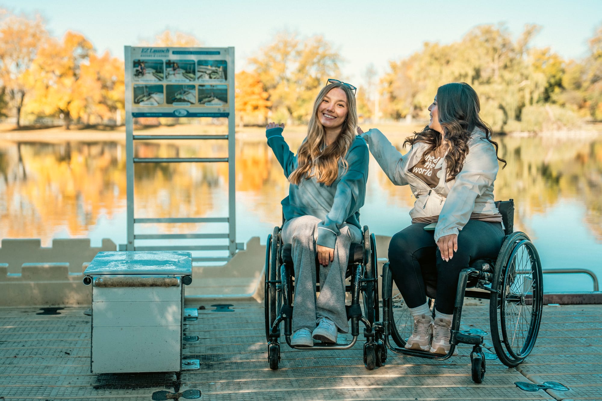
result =
[[265,245],[265,337],[270,341],[270,331],[282,305],[282,292],[278,289],[280,269],[278,269],[278,252],[280,244],[280,228],[275,227],[273,234],[268,235]]

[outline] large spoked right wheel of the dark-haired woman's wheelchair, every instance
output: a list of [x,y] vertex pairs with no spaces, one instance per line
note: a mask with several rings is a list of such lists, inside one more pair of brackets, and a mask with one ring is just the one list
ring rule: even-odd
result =
[[531,352],[544,302],[543,274],[535,246],[524,232],[506,237],[495,263],[489,320],[495,353],[514,367]]

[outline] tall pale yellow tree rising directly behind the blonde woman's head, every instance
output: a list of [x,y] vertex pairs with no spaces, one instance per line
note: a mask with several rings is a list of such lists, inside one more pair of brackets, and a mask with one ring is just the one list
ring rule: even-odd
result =
[[270,94],[272,111],[281,112],[288,123],[309,119],[318,89],[340,76],[341,61],[322,36],[303,39],[287,31],[249,59]]

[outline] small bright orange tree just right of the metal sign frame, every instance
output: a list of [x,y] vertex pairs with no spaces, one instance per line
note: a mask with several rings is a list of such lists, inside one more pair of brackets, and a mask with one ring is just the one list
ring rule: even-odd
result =
[[240,118],[240,126],[245,119],[260,118],[265,120],[272,102],[264,90],[264,85],[255,72],[241,71],[235,75],[235,110]]

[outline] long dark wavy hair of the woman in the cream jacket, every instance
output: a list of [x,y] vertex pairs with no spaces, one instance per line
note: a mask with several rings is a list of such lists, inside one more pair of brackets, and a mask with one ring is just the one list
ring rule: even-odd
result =
[[[495,148],[495,157],[504,163],[502,168],[506,167],[506,160],[497,155],[497,142],[491,140],[491,126],[479,116],[481,110],[479,96],[470,85],[465,82],[441,85],[437,89],[437,108],[439,124],[450,144],[447,155],[445,155],[448,167],[446,181],[451,181],[461,172],[468,154],[468,140],[475,128],[485,133],[485,139],[491,142]],[[441,133],[427,125],[422,131],[414,132],[413,137],[406,138],[403,145],[405,146],[406,143],[414,145],[417,142],[427,143],[429,146],[421,158],[421,162],[424,163],[426,155],[438,148],[441,140]]]

